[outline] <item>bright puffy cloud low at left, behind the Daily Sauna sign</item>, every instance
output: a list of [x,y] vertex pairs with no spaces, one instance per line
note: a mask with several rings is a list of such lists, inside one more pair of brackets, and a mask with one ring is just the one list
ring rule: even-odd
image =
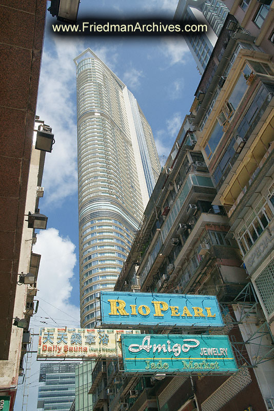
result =
[[[79,327],[79,307],[69,302],[71,278],[76,264],[75,246],[69,238],[62,238],[54,228],[40,231],[33,252],[41,254],[41,263],[37,279],[37,297],[39,301],[37,314],[32,317],[30,329],[38,333],[38,327]],[[38,339],[32,337],[32,350],[37,349]],[[27,380],[28,411],[36,411],[38,395],[38,376],[41,362],[32,354],[29,363],[24,365],[28,372]],[[26,370],[26,368],[31,368]],[[26,401],[26,398],[24,399]],[[18,385],[14,411],[21,411],[23,402],[23,385]]]

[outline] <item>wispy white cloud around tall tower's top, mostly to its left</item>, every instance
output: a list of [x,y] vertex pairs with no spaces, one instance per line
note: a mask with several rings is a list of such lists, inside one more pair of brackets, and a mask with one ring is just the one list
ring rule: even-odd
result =
[[[84,43],[52,38],[43,51],[37,115],[52,127],[55,144],[47,154],[43,185],[46,203],[61,206],[77,191],[76,79],[73,59],[85,50]],[[110,67],[117,55],[106,46],[93,50]],[[109,55],[111,57],[109,58]]]

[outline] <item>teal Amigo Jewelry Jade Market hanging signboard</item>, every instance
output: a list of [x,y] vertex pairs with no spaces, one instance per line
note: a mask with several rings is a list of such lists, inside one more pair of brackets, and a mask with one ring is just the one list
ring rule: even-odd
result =
[[122,334],[121,343],[129,373],[238,371],[227,335]]

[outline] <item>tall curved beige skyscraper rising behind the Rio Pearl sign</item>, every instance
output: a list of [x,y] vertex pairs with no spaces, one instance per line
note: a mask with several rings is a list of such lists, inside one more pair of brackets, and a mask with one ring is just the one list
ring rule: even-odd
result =
[[81,325],[100,315],[160,173],[151,128],[126,85],[90,50],[77,77]]

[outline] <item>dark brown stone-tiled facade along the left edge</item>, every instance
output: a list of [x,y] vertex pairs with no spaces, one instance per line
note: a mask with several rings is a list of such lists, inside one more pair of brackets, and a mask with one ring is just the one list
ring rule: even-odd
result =
[[[0,360],[8,360],[46,16],[46,0],[0,2],[2,150]],[[16,24],[16,30],[14,30]],[[28,35],[24,35],[26,32]],[[16,64],[14,64],[16,62]],[[16,92],[15,92],[16,90]]]

